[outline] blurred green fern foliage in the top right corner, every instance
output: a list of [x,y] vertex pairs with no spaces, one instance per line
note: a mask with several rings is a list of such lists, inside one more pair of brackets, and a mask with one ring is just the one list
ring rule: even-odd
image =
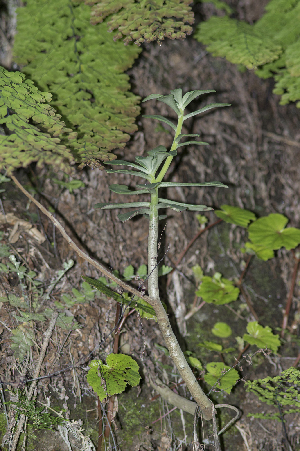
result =
[[254,24],[211,17],[194,37],[214,56],[255,69],[261,78],[275,78],[274,94],[281,105],[297,102],[300,108],[300,0],[271,0]]

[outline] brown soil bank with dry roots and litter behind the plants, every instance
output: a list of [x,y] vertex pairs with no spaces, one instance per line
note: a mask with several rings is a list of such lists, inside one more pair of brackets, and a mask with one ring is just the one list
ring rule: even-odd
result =
[[[248,5],[251,2],[241,3],[246,6],[241,8],[240,14],[247,19],[247,14],[254,14]],[[257,14],[262,12],[257,11]],[[184,92],[214,89],[216,93],[201,96],[191,104],[191,108],[200,108],[203,102],[231,104],[229,108],[216,109],[185,122],[183,133],[199,133],[200,140],[208,142],[209,146],[182,147],[168,173],[168,181],[221,181],[229,188],[177,188],[164,194],[172,200],[208,205],[215,209],[223,204],[238,206],[251,210],[257,217],[280,213],[288,217],[288,226],[299,227],[300,111],[295,105],[279,105],[279,96],[272,94],[273,80],[261,80],[253,71],[239,72],[235,65],[212,57],[192,37],[183,41],[166,40],[161,46],[145,44],[144,51],[128,74],[133,92],[142,98],[151,93],[168,94],[175,88],[182,88]],[[143,103],[142,114],[174,118],[167,105],[156,101]],[[137,123],[139,130],[132,135],[125,149],[116,150],[119,158],[133,161],[135,156],[143,155],[157,145],[170,147],[172,135],[167,126],[158,126],[157,121],[142,116]],[[138,268],[147,263],[146,218],[137,217],[122,223],[117,218],[118,212],[93,208],[98,202],[128,201],[125,196],[123,198],[110,192],[108,186],[114,183],[135,186],[133,177],[85,168],[76,173],[76,179],[84,182],[85,188],[75,189],[73,193],[53,182],[53,178],[62,180],[63,174],[54,174],[51,168],[37,171],[32,165],[17,171],[16,177],[27,189],[35,190],[36,199],[55,212],[70,237],[91,257],[121,274],[130,264]],[[75,262],[51,292],[47,306],[53,307],[62,294],[72,295],[72,288],[80,289],[82,275],[92,278],[101,275],[77,258],[50,220],[12,182],[2,186],[5,189],[2,193],[2,213],[11,213],[26,221],[46,239],[39,243],[25,230],[24,224],[19,226],[20,233],[16,235],[16,231],[12,233],[14,224],[2,222],[1,244],[8,245],[18,261],[37,273],[44,291],[57,277],[64,262],[70,259]],[[208,224],[218,219],[214,212],[205,213],[205,216]],[[198,231],[196,214],[172,212],[161,226],[160,250],[164,264],[174,267],[178,256]],[[260,325],[271,327],[273,332],[282,325],[294,267],[293,253],[285,250],[279,250],[276,257],[267,262],[252,258],[243,279],[245,296],[240,296],[238,301],[228,306],[204,304],[188,320],[185,319],[195,301],[197,288],[192,267],[199,264],[205,275],[212,276],[218,271],[223,277],[238,280],[247,260],[241,252],[246,241],[244,229],[220,223],[195,241],[177,266],[177,271],[161,279],[163,300],[168,306],[178,339],[183,349],[192,352],[203,366],[212,361],[234,365],[240,351],[235,337],[246,333],[249,321],[257,319]],[[9,259],[3,257],[1,261],[7,264]],[[4,272],[0,276],[1,296],[8,293],[24,296],[17,277],[10,277]],[[249,310],[249,301],[252,311]],[[200,301],[197,302],[199,305]],[[7,302],[0,303],[0,306],[0,378],[6,382],[3,386],[12,393],[22,387],[20,374],[26,365],[25,376],[32,378],[37,350],[43,343],[47,324],[34,322],[36,346],[33,346],[25,365],[15,358],[11,349],[10,330],[19,324],[15,318],[18,309]],[[97,398],[87,384],[86,374],[91,359],[104,361],[105,356],[112,352],[115,303],[99,295],[66,311],[67,315],[74,316],[79,327],[71,331],[59,327],[55,329],[40,371],[40,377],[47,377],[39,380],[38,399],[46,403],[49,398],[52,408],[66,409],[66,417],[81,421],[83,434],[90,434],[97,445]],[[247,416],[249,413],[271,414],[277,410],[261,403],[253,393],[246,392],[244,386],[244,380],[277,376],[296,362],[299,355],[299,313],[299,284],[296,283],[287,333],[278,354],[261,352],[250,360],[242,360],[241,380],[233,391],[230,394],[223,391],[210,395],[215,403],[232,404],[241,411],[239,421],[222,435],[224,451],[300,450],[299,413],[286,416],[286,434],[291,446],[288,448],[282,422]],[[220,339],[212,334],[211,329],[218,321],[230,325],[233,331],[231,337]],[[199,346],[204,340],[217,342],[224,348],[235,347],[236,352],[220,354],[208,351]],[[126,344],[126,352],[140,364],[142,382],[139,387],[128,388],[117,397],[113,435],[106,449],[191,450],[192,416],[178,409],[172,410],[173,406],[157,396],[149,385],[148,375],[158,374],[167,385],[178,384],[178,392],[189,398],[171,360],[161,348],[156,347],[164,346],[157,324],[136,314],[130,315],[124,324],[122,344]],[[256,351],[257,348],[252,346],[247,353],[252,355]],[[208,392],[210,386],[203,379],[201,384]],[[5,397],[8,400],[7,394]],[[231,419],[233,414],[228,412],[222,409],[220,427]],[[2,414],[1,418],[0,431],[3,435],[5,415]],[[204,439],[210,435],[206,426]],[[30,425],[29,431],[28,450],[69,449],[58,431],[37,431]],[[69,437],[74,449],[80,449],[80,441],[76,442],[72,434]],[[210,446],[207,444],[205,449],[213,449]]]

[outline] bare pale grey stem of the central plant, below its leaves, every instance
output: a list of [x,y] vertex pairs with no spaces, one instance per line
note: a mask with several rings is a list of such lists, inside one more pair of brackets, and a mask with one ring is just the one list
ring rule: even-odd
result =
[[151,194],[149,237],[148,237],[148,292],[152,299],[156,299],[155,313],[161,333],[170,353],[170,357],[177,367],[179,374],[185,381],[191,395],[199,405],[203,418],[211,420],[213,416],[213,404],[204,394],[196,377],[194,376],[186,358],[175,337],[168,315],[160,301],[158,289],[158,267],[157,267],[157,242],[158,242],[158,188]]

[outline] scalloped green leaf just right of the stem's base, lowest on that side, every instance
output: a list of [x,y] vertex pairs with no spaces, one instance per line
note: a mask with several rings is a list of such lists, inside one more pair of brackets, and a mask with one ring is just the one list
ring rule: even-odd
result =
[[208,374],[204,376],[205,382],[226,391],[226,393],[230,393],[240,379],[237,370],[224,365],[223,362],[210,362],[206,365],[206,370]]

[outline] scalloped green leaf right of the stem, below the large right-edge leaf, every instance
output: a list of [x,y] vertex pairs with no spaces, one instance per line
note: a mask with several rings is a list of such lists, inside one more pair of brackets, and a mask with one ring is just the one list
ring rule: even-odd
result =
[[236,301],[239,293],[240,290],[218,272],[213,277],[203,276],[202,284],[196,291],[196,295],[201,296],[205,302],[216,305]]

